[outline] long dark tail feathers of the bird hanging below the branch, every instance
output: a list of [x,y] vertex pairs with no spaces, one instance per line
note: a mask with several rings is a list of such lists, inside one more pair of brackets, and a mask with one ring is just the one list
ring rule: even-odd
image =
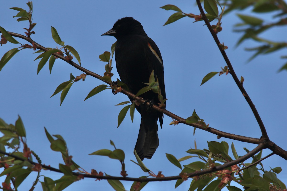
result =
[[141,116],[139,135],[135,144],[135,151],[141,160],[152,158],[159,144],[157,119],[153,118]]

